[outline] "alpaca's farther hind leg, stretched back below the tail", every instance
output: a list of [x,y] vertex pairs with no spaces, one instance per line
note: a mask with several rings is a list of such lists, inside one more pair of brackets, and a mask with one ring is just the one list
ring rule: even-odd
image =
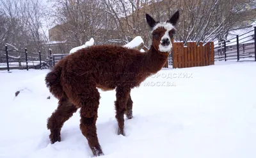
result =
[[59,101],[59,106],[56,111],[52,113],[51,117],[47,120],[47,129],[51,131],[49,138],[51,139],[51,143],[55,143],[56,141],[61,141],[60,131],[63,124],[76,113],[77,107],[75,107],[71,102],[66,98],[62,98]]

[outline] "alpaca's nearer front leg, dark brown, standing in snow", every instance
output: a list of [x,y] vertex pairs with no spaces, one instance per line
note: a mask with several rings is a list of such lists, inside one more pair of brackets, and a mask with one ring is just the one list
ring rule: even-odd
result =
[[118,122],[118,132],[117,134],[120,135],[124,134],[124,113],[126,111],[127,101],[129,99],[131,88],[125,87],[117,87],[116,88],[116,101],[115,101],[115,108],[116,108],[116,120]]

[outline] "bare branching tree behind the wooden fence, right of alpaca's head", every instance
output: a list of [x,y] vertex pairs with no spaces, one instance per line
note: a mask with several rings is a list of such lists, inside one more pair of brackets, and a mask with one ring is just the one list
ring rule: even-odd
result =
[[177,39],[207,42],[223,40],[228,31],[243,24],[243,13],[248,0],[180,0],[177,8],[181,20]]

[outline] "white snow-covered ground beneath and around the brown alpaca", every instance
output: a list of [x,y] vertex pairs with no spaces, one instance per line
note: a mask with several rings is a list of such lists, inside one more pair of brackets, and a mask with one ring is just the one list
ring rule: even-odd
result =
[[[255,158],[255,68],[256,62],[220,61],[161,70],[132,90],[127,136],[116,135],[115,91],[100,91],[102,157]],[[92,157],[79,130],[79,111],[63,126],[62,141],[49,142],[46,120],[58,100],[45,86],[47,72],[0,71],[1,158]]]

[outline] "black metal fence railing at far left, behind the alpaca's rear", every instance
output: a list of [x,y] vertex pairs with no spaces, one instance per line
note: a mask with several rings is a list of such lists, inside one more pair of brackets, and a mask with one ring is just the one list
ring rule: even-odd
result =
[[51,66],[50,58],[51,50],[50,55],[45,55],[41,51],[29,52],[27,49],[11,51],[6,45],[5,49],[0,49],[0,70],[9,72],[10,69],[49,68]]

